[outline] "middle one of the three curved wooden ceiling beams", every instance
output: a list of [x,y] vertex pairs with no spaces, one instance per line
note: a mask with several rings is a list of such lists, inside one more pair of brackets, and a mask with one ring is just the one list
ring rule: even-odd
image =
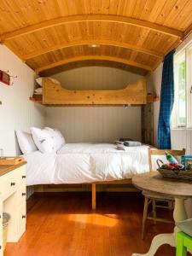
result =
[[153,55],[155,57],[160,58],[161,60],[163,58],[163,54],[160,54],[159,52],[154,51],[154,50],[143,48],[142,46],[138,46],[137,44],[127,44],[127,43],[123,43],[123,42],[119,42],[119,41],[101,40],[101,39],[99,39],[99,40],[90,39],[90,40],[75,41],[75,42],[70,42],[70,43],[55,44],[54,46],[50,46],[50,47],[47,47],[44,49],[34,50],[27,55],[22,55],[21,58],[23,61],[27,61],[34,57],[37,57],[39,55],[44,55],[46,53],[55,51],[57,49],[65,49],[68,47],[89,45],[89,44],[110,45],[110,46],[116,46],[116,47],[125,48],[125,49],[132,49],[132,50],[136,50],[138,52],[142,52],[147,55]]

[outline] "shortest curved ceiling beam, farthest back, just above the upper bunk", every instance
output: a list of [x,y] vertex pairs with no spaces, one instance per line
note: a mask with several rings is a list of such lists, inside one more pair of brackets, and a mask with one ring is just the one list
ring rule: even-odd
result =
[[49,65],[44,66],[44,67],[38,67],[35,71],[36,71],[36,73],[40,73],[44,70],[47,70],[47,69],[50,69],[50,68],[53,68],[53,67],[58,67],[58,66],[70,63],[70,62],[85,61],[85,60],[86,61],[87,60],[116,61],[116,62],[124,63],[126,65],[130,65],[130,66],[133,66],[133,67],[141,67],[141,68],[143,68],[145,70],[148,70],[148,71],[153,70],[153,67],[143,65],[143,64],[138,63],[136,61],[129,61],[129,60],[126,60],[124,58],[118,58],[118,57],[108,56],[108,55],[83,55],[83,56],[76,56],[76,57],[73,57],[73,58],[68,58],[68,59],[61,60],[61,61],[56,61],[56,62],[53,62]]

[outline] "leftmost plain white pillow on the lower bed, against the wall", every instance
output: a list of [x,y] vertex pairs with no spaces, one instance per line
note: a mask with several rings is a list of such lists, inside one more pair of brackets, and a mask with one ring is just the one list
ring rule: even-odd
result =
[[20,151],[23,154],[29,154],[29,153],[32,153],[33,151],[38,150],[38,148],[36,147],[32,139],[31,133],[28,133],[26,131],[15,131],[15,132],[16,132],[17,141],[20,146]]

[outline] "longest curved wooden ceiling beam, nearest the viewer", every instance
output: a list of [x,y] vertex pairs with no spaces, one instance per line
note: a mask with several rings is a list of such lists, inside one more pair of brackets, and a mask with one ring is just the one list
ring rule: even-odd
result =
[[74,22],[84,22],[84,21],[106,21],[106,22],[115,22],[121,24],[127,24],[132,26],[140,26],[143,28],[147,28],[150,30],[154,30],[156,32],[161,32],[164,34],[168,34],[173,37],[183,38],[183,32],[178,31],[177,29],[173,29],[168,26],[162,26],[156,23],[149,22],[147,20],[139,20],[135,18],[120,16],[120,15],[71,15],[56,18],[53,20],[45,20],[38,24],[32,26],[26,26],[15,30],[13,32],[8,32],[1,35],[1,42],[6,42],[13,38],[18,38],[20,36],[24,36],[26,34],[37,32],[43,30],[45,28],[49,28],[51,26],[60,26],[62,24],[69,24]]

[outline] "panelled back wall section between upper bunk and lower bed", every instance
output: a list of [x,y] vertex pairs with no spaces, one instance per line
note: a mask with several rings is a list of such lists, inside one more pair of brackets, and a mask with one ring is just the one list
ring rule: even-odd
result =
[[60,129],[67,143],[113,143],[119,137],[141,139],[139,107],[58,107],[46,110],[46,125]]

